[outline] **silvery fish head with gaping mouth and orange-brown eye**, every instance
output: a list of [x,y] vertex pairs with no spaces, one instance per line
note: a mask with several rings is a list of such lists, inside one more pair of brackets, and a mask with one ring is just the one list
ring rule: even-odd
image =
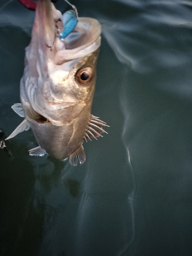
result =
[[25,115],[53,125],[71,122],[92,104],[100,46],[96,19],[78,18],[63,40],[58,36],[62,29],[62,14],[50,0],[38,0],[20,98]]

